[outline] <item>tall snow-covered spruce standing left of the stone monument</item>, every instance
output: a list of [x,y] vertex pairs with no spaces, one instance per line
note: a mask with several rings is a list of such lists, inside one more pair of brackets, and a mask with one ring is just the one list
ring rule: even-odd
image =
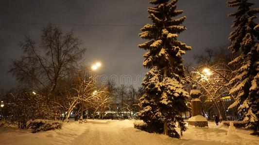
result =
[[153,24],[146,24],[139,36],[148,42],[138,47],[148,50],[143,57],[143,66],[149,71],[145,74],[142,86],[145,94],[140,98],[141,110],[138,117],[147,123],[146,131],[162,133],[175,138],[180,135],[175,131],[176,122],[181,134],[186,131],[182,112],[187,110],[188,92],[185,84],[183,58],[191,47],[177,40],[177,36],[186,27],[179,26],[186,16],[176,10],[177,0],[152,0],[149,7],[149,18]]

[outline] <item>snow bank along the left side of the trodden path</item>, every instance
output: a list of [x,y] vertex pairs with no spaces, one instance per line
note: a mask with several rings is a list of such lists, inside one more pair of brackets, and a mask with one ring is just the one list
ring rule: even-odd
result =
[[0,145],[69,145],[86,131],[78,121],[64,123],[62,129],[32,133],[31,130],[0,127]]

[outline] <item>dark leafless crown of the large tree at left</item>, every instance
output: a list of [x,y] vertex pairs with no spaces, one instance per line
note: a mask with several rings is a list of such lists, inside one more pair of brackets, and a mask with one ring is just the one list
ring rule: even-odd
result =
[[42,29],[40,43],[26,36],[19,45],[23,56],[12,62],[9,72],[19,82],[47,96],[77,66],[86,50],[80,48],[81,42],[72,31],[64,33],[51,24]]

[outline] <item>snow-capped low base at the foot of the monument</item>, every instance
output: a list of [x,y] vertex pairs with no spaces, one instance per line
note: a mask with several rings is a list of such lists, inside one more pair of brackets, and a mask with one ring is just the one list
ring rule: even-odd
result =
[[208,129],[208,122],[204,116],[192,116],[188,119],[188,126],[195,128]]

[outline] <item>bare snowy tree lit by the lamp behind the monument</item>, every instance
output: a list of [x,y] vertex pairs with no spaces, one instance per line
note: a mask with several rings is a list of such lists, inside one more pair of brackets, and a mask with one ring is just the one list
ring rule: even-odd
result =
[[[188,74],[187,78],[189,82],[200,86],[203,94],[201,100],[204,109],[211,108],[211,105],[214,104],[221,116],[219,106],[224,107],[224,105],[220,97],[224,94],[228,94],[231,87],[228,86],[227,83],[233,77],[231,74],[232,68],[228,65],[231,59],[230,52],[224,48],[220,48],[216,51],[207,48],[206,55],[195,56],[195,58],[199,66],[193,67],[191,71],[190,66],[188,66],[188,71],[186,71]],[[209,72],[206,73],[206,71]]]

